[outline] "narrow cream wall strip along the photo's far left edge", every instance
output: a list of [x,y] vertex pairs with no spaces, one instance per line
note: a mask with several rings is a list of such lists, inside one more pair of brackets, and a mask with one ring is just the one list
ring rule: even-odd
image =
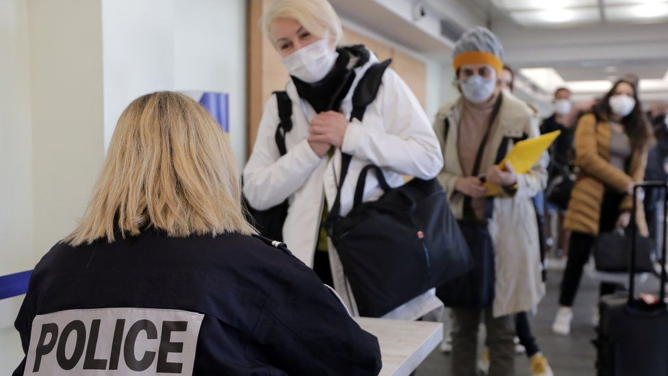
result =
[[[34,265],[27,4],[0,0],[0,275]],[[22,297],[0,301],[0,375],[23,352],[12,327]]]

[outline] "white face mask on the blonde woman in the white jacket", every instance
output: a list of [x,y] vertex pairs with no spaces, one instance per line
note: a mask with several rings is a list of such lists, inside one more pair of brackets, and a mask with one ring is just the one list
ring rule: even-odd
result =
[[332,70],[338,55],[339,53],[329,47],[329,40],[322,38],[318,42],[294,51],[281,62],[291,76],[313,84],[323,79]]

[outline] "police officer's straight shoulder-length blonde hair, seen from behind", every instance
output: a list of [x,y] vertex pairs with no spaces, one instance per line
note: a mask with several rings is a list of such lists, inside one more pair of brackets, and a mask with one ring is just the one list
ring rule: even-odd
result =
[[135,99],[120,115],[79,227],[63,241],[114,241],[153,227],[168,236],[253,234],[227,137],[209,113],[177,92]]

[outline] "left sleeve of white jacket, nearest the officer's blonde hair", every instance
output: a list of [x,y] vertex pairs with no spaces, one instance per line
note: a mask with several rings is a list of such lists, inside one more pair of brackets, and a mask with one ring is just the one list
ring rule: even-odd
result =
[[276,96],[264,108],[253,153],[244,168],[244,195],[257,210],[278,205],[298,190],[320,163],[308,140],[281,156],[274,135],[279,125]]

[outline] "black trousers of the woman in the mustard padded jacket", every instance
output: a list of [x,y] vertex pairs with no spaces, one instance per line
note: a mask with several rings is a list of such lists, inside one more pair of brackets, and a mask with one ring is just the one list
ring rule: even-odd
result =
[[[601,219],[599,222],[599,232],[613,231],[619,218],[619,204],[624,199],[624,194],[613,191],[606,191],[601,204]],[[580,286],[582,279],[582,269],[589,261],[591,247],[594,245],[595,236],[573,231],[569,242],[568,261],[566,270],[561,280],[561,295],[559,304],[566,307],[573,306],[573,301]],[[619,288],[618,284],[601,282],[600,293],[602,295],[612,294]]]

